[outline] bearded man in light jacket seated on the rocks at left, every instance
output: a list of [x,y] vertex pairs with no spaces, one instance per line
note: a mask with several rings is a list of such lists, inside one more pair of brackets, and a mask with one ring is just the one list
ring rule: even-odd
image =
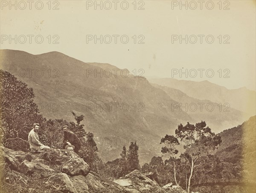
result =
[[36,150],[50,150],[51,148],[48,146],[45,146],[39,141],[39,136],[38,136],[38,130],[39,130],[39,124],[35,123],[34,128],[29,132],[29,145],[31,149],[36,149]]

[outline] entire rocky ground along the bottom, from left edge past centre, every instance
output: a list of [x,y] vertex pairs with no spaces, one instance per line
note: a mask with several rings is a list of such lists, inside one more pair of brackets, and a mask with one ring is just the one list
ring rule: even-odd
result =
[[[89,171],[89,165],[71,150],[52,149],[26,153],[1,146],[0,151],[2,155],[0,166],[6,168],[8,165],[9,171],[15,171],[2,181],[15,184],[20,183],[17,179],[23,179],[23,190],[29,193],[185,192],[181,187],[173,186],[172,183],[160,187],[154,180],[156,177],[154,173],[143,174],[139,170],[134,170],[114,181],[105,179]],[[10,179],[12,176],[18,176],[18,178]],[[27,182],[29,178],[31,181]]]

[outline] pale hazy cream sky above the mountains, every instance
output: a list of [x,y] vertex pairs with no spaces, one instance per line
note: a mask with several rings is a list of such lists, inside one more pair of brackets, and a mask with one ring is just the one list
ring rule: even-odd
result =
[[[41,10],[38,1],[33,1],[31,10],[29,3],[23,2],[26,8],[23,9],[24,3],[20,3],[15,10],[15,6],[10,9],[6,5],[9,1],[1,1],[1,49],[22,50],[31,54],[59,51],[84,62],[110,63],[130,71],[144,69],[145,77],[173,75],[176,79],[209,80],[230,89],[246,86],[255,90],[254,0],[212,1],[212,9],[209,1],[204,1],[202,5],[198,1],[187,1],[187,10],[185,6],[180,9],[177,5],[180,1],[169,0],[127,1],[129,7],[126,10],[125,1],[117,1],[116,10],[114,1],[102,2],[102,10],[100,6],[94,8],[94,1],[55,1],[51,3],[50,10],[48,1],[42,1],[44,7]],[[12,3],[15,4],[15,1]],[[107,10],[110,5],[111,8]],[[195,5],[197,8],[194,9]],[[58,10],[52,10],[54,6]],[[144,10],[138,10],[139,7]],[[17,43],[15,40],[9,43],[9,35],[17,35]],[[34,35],[31,44],[27,35]],[[41,44],[35,42],[35,36],[38,35],[44,38]],[[58,38],[54,35],[59,37],[59,44],[52,43]],[[96,43],[88,40],[87,35],[93,38],[102,35],[102,44],[100,40]],[[116,36],[116,43],[113,35],[119,35]],[[180,36],[186,39],[186,35],[187,44],[186,40],[181,43],[179,40],[174,41],[175,37]],[[202,43],[198,35],[202,35]],[[208,42],[214,37],[212,44],[207,43],[207,36]],[[109,37],[112,41],[108,44]],[[129,40],[125,44],[126,37]],[[144,44],[139,44],[139,41]],[[188,70],[187,78],[185,74],[180,77],[175,70],[182,68],[184,72]],[[198,69],[204,69],[201,70],[202,77]],[[229,78],[224,78],[225,75]]]

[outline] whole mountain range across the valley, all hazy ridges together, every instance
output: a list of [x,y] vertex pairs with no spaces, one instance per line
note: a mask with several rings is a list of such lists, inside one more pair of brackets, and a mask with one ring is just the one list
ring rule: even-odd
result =
[[[151,84],[131,73],[126,77],[127,70],[120,74],[121,69],[116,66],[85,63],[59,52],[33,55],[24,51],[1,50],[0,54],[1,69],[11,70],[12,74],[16,74],[17,69],[17,78],[33,88],[35,102],[46,118],[74,121],[71,111],[84,115],[82,124],[86,131],[94,133],[99,155],[104,161],[116,159],[123,144],[137,140],[140,162],[148,162],[152,156],[160,156],[161,137],[174,134],[180,123],[204,120],[214,132],[234,127],[248,115],[242,112],[244,108],[233,108],[235,99],[230,102],[230,93],[237,94],[232,98],[237,97],[238,101],[241,96],[248,95],[244,93],[253,95],[247,89],[242,90],[244,93],[235,92],[210,82],[205,83],[201,90],[201,82],[194,88],[192,83],[186,85],[186,82],[176,80],[153,79],[151,82],[157,85]],[[167,84],[172,81],[176,83]],[[181,84],[180,88],[176,84]],[[186,87],[191,88],[186,91]],[[214,95],[212,98],[211,94]],[[199,102],[214,104],[214,111],[180,109],[180,103]],[[222,105],[229,102],[230,112],[223,112],[224,106],[219,112],[220,106],[217,105],[220,102]]]

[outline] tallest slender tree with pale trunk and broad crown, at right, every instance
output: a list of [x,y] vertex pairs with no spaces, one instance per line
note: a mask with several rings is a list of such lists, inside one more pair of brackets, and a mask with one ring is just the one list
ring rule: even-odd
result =
[[203,121],[195,125],[189,122],[185,126],[180,124],[175,130],[175,134],[177,139],[184,143],[183,148],[186,149],[186,153],[183,154],[183,158],[190,165],[189,181],[187,183],[187,192],[189,193],[193,170],[198,166],[196,161],[202,155],[207,154],[209,149],[214,150],[220,145],[221,136],[212,133],[211,129],[208,126],[206,127],[206,123]]

